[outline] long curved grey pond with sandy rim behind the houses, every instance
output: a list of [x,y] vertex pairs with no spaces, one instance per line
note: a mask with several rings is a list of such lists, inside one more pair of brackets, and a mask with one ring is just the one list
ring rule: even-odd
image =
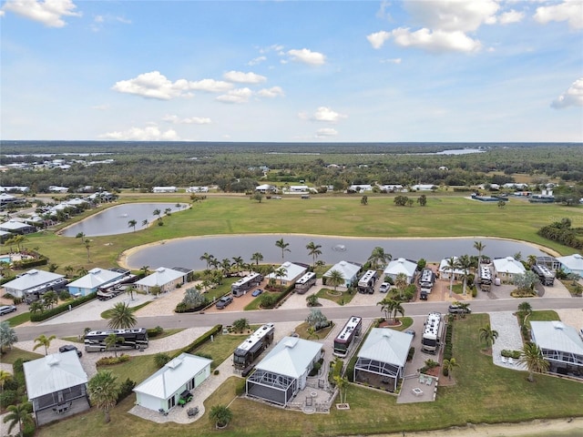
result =
[[405,258],[418,261],[426,259],[429,262],[439,262],[441,259],[461,255],[477,255],[474,242],[481,241],[486,249],[483,255],[490,258],[514,256],[520,252],[522,259],[529,255],[544,256],[547,253],[526,242],[507,239],[378,239],[378,238],[350,238],[325,237],[319,235],[297,234],[261,234],[261,235],[229,235],[190,237],[159,241],[152,246],[131,250],[125,259],[128,269],[141,269],[149,266],[151,269],[159,267],[186,267],[195,270],[207,268],[205,260],[200,259],[204,253],[213,255],[216,259],[230,259],[241,257],[245,262],[251,262],[251,255],[260,252],[263,256],[261,263],[281,264],[281,249],[275,242],[283,239],[288,243],[284,252],[286,261],[312,264],[313,259],[306,249],[306,245],[313,241],[322,246],[322,259],[326,264],[335,264],[345,260],[364,264],[371,256],[373,248],[380,246],[385,253],[390,253],[393,259]]

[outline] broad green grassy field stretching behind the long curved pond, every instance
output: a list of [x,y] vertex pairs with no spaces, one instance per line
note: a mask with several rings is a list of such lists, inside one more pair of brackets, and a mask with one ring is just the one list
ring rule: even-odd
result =
[[[123,250],[142,244],[187,236],[294,233],[362,237],[501,237],[522,239],[568,255],[566,248],[537,236],[537,229],[569,218],[573,226],[583,221],[583,208],[530,204],[512,198],[505,208],[455,196],[427,193],[427,206],[396,207],[391,196],[369,196],[368,205],[359,197],[318,197],[310,200],[251,201],[244,196],[209,196],[192,208],[164,218],[164,226],[152,226],[116,236],[92,237],[87,249],[81,239],[66,238],[45,231],[26,237],[26,247],[50,256],[50,262],[65,273],[74,269],[109,267],[117,264]],[[411,194],[416,198],[415,194]],[[185,195],[137,197],[124,195],[120,201],[188,202]],[[77,219],[77,218],[76,218]],[[69,224],[69,223],[67,223]],[[6,252],[9,248],[3,247]],[[200,254],[201,255],[201,254]]]

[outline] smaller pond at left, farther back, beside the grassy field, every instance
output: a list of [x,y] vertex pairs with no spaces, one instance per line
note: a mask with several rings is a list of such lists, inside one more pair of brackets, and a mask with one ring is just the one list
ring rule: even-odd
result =
[[[149,224],[159,217],[163,218],[168,208],[170,212],[177,212],[189,208],[189,205],[186,203],[126,203],[104,209],[79,221],[63,229],[61,235],[75,237],[79,232],[83,232],[86,237],[100,237],[133,232],[134,228],[129,226],[130,220],[136,220],[136,230],[143,229],[148,226],[143,224],[144,220],[148,220]],[[159,216],[154,215],[156,209],[160,211]]]

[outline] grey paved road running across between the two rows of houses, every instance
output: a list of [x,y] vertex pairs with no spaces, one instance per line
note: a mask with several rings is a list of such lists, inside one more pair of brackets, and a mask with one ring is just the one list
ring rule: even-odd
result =
[[[533,310],[583,309],[583,299],[578,298],[533,298],[533,299],[496,299],[473,300],[472,312],[515,311],[518,304],[527,300]],[[429,311],[447,312],[447,302],[414,302],[405,303],[406,316],[422,316]],[[140,317],[138,326],[154,328],[162,326],[165,329],[208,327],[216,324],[230,325],[233,320],[244,317],[251,324],[261,324],[270,321],[303,321],[309,309],[292,310],[258,310],[258,311],[225,311],[208,314],[179,314],[174,316]],[[375,305],[344,306],[325,309],[326,317],[330,320],[348,319],[352,315],[363,318],[382,317],[380,307]],[[583,319],[583,313],[581,315]],[[91,320],[66,324],[23,326],[15,328],[18,340],[34,340],[40,334],[56,335],[56,337],[70,337],[83,333],[87,325],[95,330],[107,328],[107,320]]]

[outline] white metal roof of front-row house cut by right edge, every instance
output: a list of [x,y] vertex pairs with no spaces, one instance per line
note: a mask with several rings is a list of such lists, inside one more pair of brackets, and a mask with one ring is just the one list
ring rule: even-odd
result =
[[583,356],[583,340],[577,330],[562,321],[530,321],[533,339],[541,349]]

